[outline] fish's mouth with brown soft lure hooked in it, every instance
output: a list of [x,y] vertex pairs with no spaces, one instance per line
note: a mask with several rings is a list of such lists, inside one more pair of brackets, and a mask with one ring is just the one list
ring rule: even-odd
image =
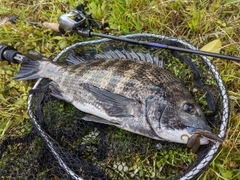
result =
[[194,127],[187,127],[187,131],[192,136],[188,139],[187,147],[192,148],[193,152],[197,152],[200,144],[208,144],[209,141],[222,144],[223,140],[212,133],[211,131],[194,128]]

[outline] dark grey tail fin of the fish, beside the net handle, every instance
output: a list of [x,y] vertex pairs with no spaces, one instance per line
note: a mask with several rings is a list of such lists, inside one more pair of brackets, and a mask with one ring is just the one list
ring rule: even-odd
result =
[[22,64],[20,71],[13,78],[14,80],[30,80],[40,78],[38,72],[40,70],[40,61],[33,61],[30,59],[25,59]]

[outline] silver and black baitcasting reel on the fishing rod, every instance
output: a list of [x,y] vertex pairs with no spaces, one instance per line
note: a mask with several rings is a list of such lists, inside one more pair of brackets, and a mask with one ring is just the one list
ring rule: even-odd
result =
[[62,14],[58,18],[60,25],[60,31],[78,31],[80,29],[89,30],[89,27],[95,27],[99,30],[103,30],[104,25],[98,23],[93,19],[92,14],[87,14],[84,10],[84,5],[80,4],[75,9],[68,11],[66,14]]

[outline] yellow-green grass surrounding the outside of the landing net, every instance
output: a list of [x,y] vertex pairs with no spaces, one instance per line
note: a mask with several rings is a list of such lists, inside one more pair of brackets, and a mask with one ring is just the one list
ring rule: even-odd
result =
[[[57,22],[62,13],[82,1],[0,1],[0,20],[16,16],[16,24],[0,27],[0,43],[25,54],[35,49],[49,58],[61,49],[83,40],[77,35],[61,36],[41,26],[20,20]],[[86,1],[98,21],[109,23],[110,34],[149,32],[182,38],[201,48],[220,38],[221,53],[240,57],[240,2],[233,0]],[[0,23],[1,24],[1,23]],[[199,179],[239,179],[240,171],[240,63],[213,59],[228,90],[230,123],[225,142],[210,167]],[[13,81],[19,65],[0,63],[0,140],[26,134],[31,123],[26,113],[28,90],[33,82]]]

